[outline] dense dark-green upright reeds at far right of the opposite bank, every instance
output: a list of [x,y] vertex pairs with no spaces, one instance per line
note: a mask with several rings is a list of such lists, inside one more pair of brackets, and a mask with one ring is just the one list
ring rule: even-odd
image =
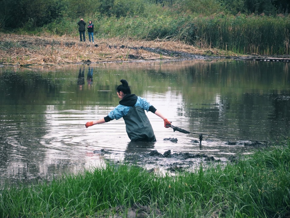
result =
[[289,19],[216,16],[196,22],[196,35],[211,47],[243,54],[290,54]]

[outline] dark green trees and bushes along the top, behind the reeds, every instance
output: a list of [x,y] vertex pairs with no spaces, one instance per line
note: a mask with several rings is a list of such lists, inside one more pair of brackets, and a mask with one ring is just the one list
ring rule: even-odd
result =
[[0,29],[31,30],[58,19],[83,16],[146,18],[150,14],[228,15],[255,14],[288,16],[288,0],[0,0]]

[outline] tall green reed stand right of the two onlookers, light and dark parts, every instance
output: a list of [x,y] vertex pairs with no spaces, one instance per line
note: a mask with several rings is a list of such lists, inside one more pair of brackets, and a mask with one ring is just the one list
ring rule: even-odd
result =
[[183,41],[198,48],[217,48],[238,54],[289,55],[290,17],[151,15],[105,17],[98,37]]

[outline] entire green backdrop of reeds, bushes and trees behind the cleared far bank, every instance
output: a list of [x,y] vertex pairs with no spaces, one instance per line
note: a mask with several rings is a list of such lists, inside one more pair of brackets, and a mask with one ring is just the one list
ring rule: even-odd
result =
[[[182,41],[239,54],[289,55],[290,5],[270,0],[6,1],[0,28],[78,37],[80,17],[95,38]],[[39,7],[39,5],[42,5]],[[26,13],[23,13],[23,12]]]

